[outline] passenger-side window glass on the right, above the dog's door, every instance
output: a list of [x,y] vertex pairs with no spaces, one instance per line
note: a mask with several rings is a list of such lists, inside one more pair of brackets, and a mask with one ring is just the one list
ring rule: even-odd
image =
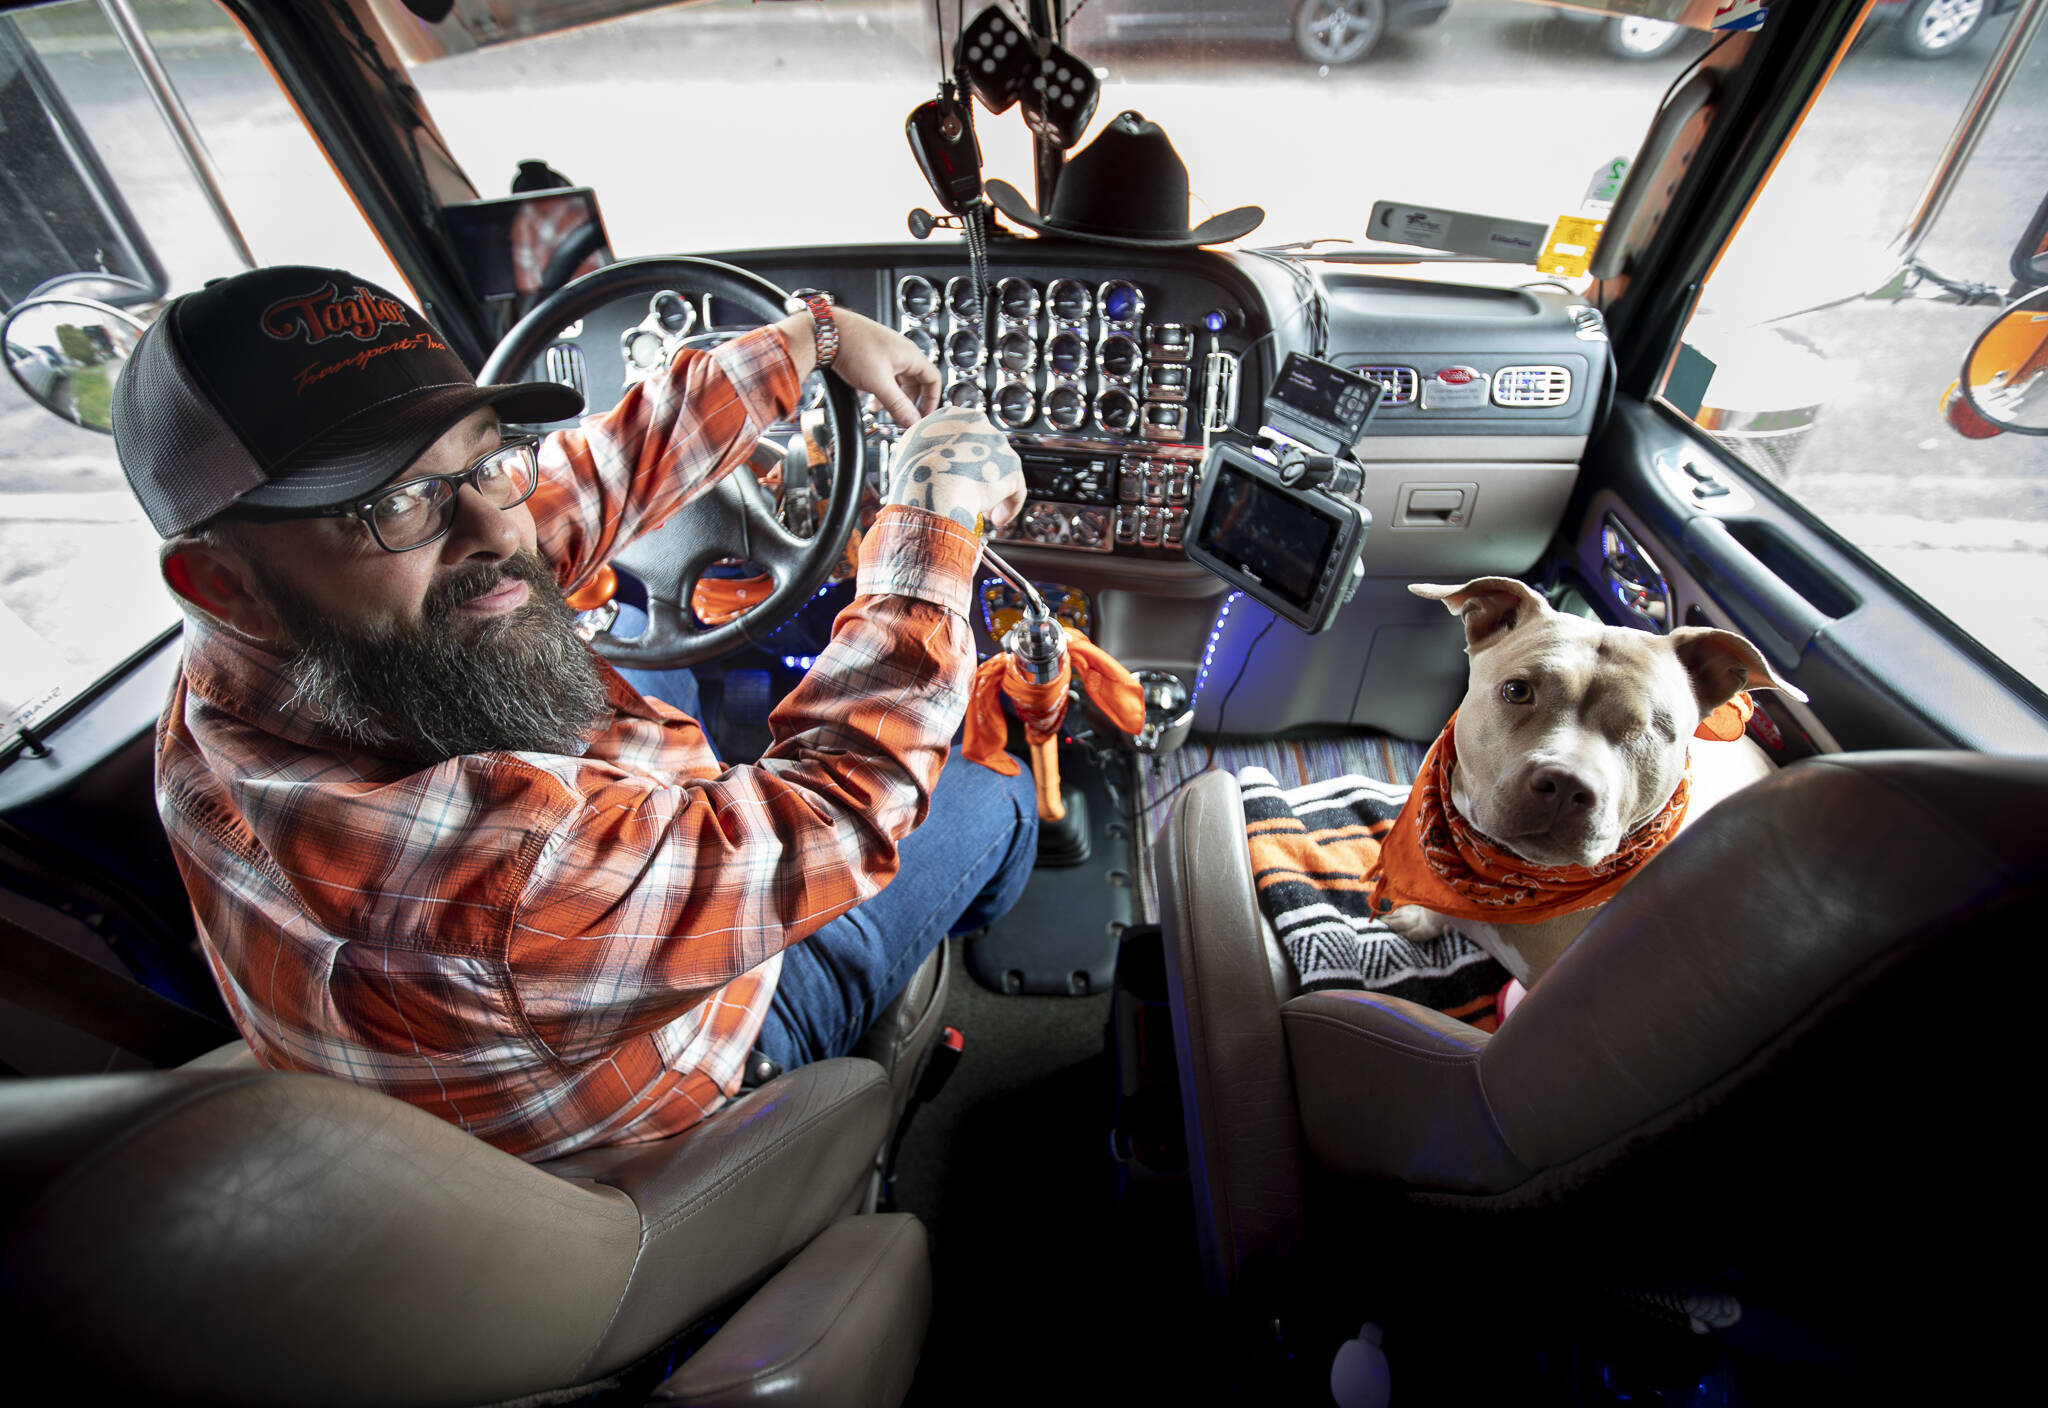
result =
[[[1960,39],[1929,18],[1964,10]],[[2048,440],[1970,438],[1944,413],[1972,342],[2028,291],[2011,258],[2048,194],[2048,45],[1905,237],[2013,18],[1989,0],[1876,8],[1702,291],[1686,344],[1712,364],[1704,395],[1681,352],[1667,397],[2048,688]]]

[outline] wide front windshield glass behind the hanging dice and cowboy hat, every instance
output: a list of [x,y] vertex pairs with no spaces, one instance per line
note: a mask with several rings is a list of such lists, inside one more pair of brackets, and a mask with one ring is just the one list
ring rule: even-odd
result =
[[[950,49],[963,12],[942,10]],[[1618,23],[1534,0],[1083,0],[1069,47],[1102,98],[1081,143],[1126,108],[1161,123],[1196,223],[1266,209],[1249,246],[1364,244],[1374,201],[1548,229],[1710,43],[1667,27],[1628,59]],[[485,196],[532,158],[596,186],[621,256],[901,239],[936,205],[897,135],[940,78],[932,4],[717,0],[467,53],[463,25],[393,20],[455,158]],[[987,174],[1030,194],[1022,111],[975,121]]]

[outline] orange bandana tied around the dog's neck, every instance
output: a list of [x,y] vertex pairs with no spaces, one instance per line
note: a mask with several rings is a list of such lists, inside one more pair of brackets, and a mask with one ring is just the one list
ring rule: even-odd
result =
[[[1747,694],[1716,708],[1694,731],[1698,739],[1731,743],[1755,710]],[[1448,804],[1450,774],[1458,765],[1452,714],[1421,759],[1407,806],[1380,841],[1378,866],[1366,876],[1372,913],[1421,905],[1450,919],[1507,919],[1534,923],[1606,905],[1622,884],[1669,841],[1692,796],[1692,759],[1671,800],[1622,837],[1620,847],[1593,866],[1534,866],[1489,841]]]

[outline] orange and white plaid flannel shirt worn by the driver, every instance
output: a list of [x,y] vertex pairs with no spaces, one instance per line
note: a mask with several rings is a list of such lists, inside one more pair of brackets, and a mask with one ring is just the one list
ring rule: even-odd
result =
[[[797,401],[772,329],[551,436],[530,499],[565,587]],[[739,1089],[782,948],[877,894],[967,706],[977,542],[891,508],[758,765],[610,667],[580,757],[352,751],[283,661],[193,628],[158,810],[258,1060],[412,1101],[526,1158],[676,1134]]]

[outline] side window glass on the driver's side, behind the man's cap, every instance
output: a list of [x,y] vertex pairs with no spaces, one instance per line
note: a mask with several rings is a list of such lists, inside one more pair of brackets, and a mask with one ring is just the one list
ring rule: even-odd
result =
[[[256,260],[340,264],[403,291],[227,12],[213,0],[143,0],[137,12]],[[137,272],[100,237],[117,225],[135,231],[154,266],[145,289],[80,289],[113,293],[143,321],[162,297],[242,268],[137,65],[90,0],[0,16],[0,311],[63,274]],[[23,362],[29,385],[47,389],[61,360],[61,346],[35,352]],[[92,368],[74,370],[92,379]],[[88,409],[94,395],[88,387]],[[113,438],[68,424],[0,375],[0,743],[12,739],[16,714],[47,716],[176,622],[156,544]]]

